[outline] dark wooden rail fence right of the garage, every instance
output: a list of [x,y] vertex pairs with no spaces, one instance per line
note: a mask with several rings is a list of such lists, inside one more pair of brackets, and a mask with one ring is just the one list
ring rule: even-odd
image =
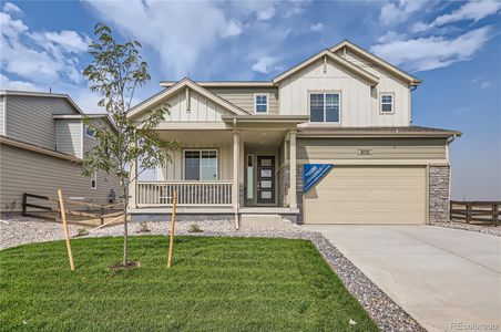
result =
[[450,201],[450,219],[478,225],[500,225],[501,201]]

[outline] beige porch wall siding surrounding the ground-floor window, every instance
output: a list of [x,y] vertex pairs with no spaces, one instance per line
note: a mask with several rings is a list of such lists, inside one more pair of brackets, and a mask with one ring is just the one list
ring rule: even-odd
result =
[[188,144],[184,143],[182,149],[172,152],[172,162],[157,169],[159,180],[184,179],[184,151],[185,149],[215,149],[217,151],[217,179],[231,180],[233,178],[233,144]]

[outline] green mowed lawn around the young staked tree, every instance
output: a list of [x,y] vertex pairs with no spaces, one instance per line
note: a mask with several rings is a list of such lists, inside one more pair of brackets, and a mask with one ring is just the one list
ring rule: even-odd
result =
[[[376,324],[306,240],[130,238],[141,267],[111,271],[122,238],[0,251],[0,329],[370,331]],[[348,324],[352,319],[356,325]]]

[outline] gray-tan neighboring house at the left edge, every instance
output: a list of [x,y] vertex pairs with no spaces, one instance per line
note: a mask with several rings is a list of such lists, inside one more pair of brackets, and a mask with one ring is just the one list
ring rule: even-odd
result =
[[0,91],[0,211],[21,211],[22,194],[106,203],[119,194],[115,177],[82,175],[81,159],[92,147],[92,131],[65,94]]

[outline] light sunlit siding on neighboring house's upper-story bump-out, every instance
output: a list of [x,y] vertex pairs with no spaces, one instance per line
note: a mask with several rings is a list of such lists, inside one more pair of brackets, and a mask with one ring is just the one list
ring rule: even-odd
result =
[[55,149],[82,158],[82,120],[55,120]]

